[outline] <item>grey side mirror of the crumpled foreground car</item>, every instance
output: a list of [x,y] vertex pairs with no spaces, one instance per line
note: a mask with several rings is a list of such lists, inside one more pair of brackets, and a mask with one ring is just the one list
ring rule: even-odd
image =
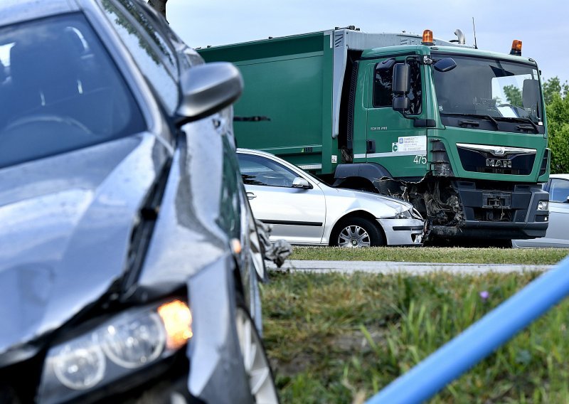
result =
[[176,124],[183,125],[212,115],[231,105],[243,91],[243,78],[231,63],[196,65],[180,78],[181,102]]

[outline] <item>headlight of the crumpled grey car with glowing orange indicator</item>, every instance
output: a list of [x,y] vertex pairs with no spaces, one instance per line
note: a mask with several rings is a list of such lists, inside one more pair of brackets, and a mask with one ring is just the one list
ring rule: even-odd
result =
[[191,312],[180,300],[118,314],[48,351],[39,401],[66,401],[105,386],[171,356],[191,336]]

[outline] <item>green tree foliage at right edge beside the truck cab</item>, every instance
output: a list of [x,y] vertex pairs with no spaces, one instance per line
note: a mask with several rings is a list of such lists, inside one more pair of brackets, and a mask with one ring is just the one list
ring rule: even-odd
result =
[[569,173],[569,84],[558,77],[543,83],[551,148],[551,173]]

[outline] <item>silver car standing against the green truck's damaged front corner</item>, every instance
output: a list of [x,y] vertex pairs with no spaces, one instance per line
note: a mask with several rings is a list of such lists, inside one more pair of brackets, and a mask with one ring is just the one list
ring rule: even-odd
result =
[[332,188],[264,151],[238,149],[238,160],[252,211],[272,225],[272,240],[342,247],[420,245],[423,220],[410,203]]

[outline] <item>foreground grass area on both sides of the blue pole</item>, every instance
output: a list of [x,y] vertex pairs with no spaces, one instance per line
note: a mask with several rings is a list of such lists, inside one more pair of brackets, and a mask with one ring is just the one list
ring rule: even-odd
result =
[[[264,338],[282,403],[363,403],[536,276],[272,272]],[[568,403],[568,321],[563,302],[431,402]]]

